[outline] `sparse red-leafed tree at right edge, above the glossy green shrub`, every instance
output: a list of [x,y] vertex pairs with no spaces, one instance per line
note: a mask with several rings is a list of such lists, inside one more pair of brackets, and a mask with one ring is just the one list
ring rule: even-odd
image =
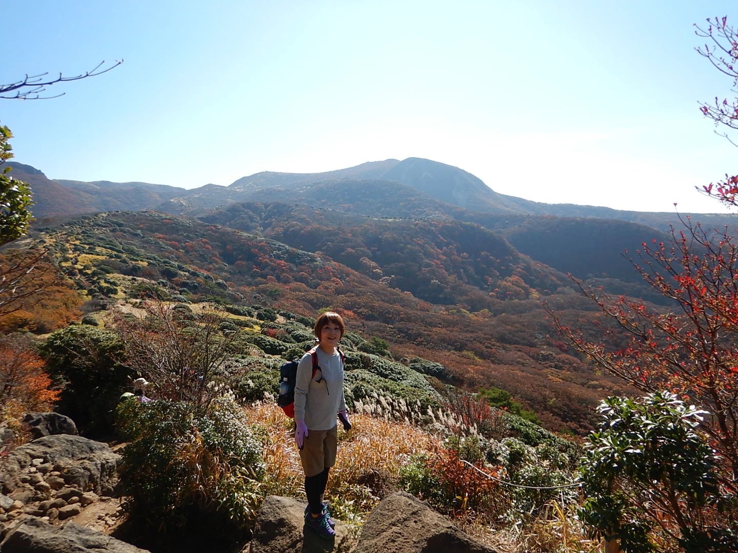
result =
[[666,389],[709,411],[701,427],[725,459],[724,484],[738,491],[738,241],[727,229],[707,231],[687,219],[683,230],[672,231],[672,243],[644,243],[631,261],[672,300],[669,307],[579,282],[616,324],[603,327],[599,341],[549,311],[554,325],[575,349],[636,389]]

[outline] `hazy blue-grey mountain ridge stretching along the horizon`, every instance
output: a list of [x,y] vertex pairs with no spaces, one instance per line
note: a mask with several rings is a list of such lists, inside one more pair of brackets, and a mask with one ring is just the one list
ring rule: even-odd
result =
[[[75,215],[108,209],[157,209],[171,213],[192,213],[199,209],[215,208],[240,201],[304,201],[311,195],[311,185],[331,181],[362,182],[365,187],[376,187],[378,181],[404,184],[415,192],[447,204],[438,211],[458,206],[472,211],[492,214],[556,215],[560,217],[609,218],[644,223],[666,230],[678,223],[675,213],[621,211],[599,206],[574,204],[543,204],[498,194],[483,181],[458,167],[431,161],[408,158],[403,161],[386,159],[369,161],[356,167],[347,167],[325,173],[262,172],[245,176],[228,187],[206,184],[194,189],[180,189],[143,182],[114,183],[110,181],[52,180],[30,165],[13,161],[16,178],[32,184],[37,205],[35,215],[44,218],[54,215]],[[70,196],[69,192],[74,195]],[[370,190],[368,190],[370,192]],[[407,192],[400,192],[407,193]],[[384,190],[382,194],[387,194]],[[57,201],[57,199],[61,201]],[[328,199],[328,198],[323,198]],[[385,213],[386,216],[406,213]],[[713,226],[734,224],[725,214],[694,215]]]

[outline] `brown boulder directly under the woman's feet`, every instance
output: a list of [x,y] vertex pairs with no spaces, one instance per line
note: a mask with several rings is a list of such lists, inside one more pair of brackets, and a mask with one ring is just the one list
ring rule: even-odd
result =
[[[251,553],[325,553],[351,549],[348,528],[336,521],[335,538],[326,539],[305,526],[306,502],[268,495],[258,512]],[[4,552],[3,552],[4,553]]]

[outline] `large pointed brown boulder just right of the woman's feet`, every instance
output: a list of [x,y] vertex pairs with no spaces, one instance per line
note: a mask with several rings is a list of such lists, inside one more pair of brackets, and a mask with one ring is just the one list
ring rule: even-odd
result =
[[353,553],[495,553],[413,497],[387,495],[370,513]]

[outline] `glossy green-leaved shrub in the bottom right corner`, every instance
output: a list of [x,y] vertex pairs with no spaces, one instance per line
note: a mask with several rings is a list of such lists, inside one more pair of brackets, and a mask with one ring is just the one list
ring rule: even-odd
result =
[[609,397],[584,444],[579,516],[624,552],[738,550],[734,496],[718,487],[720,458],[700,434],[706,411],[675,394]]

